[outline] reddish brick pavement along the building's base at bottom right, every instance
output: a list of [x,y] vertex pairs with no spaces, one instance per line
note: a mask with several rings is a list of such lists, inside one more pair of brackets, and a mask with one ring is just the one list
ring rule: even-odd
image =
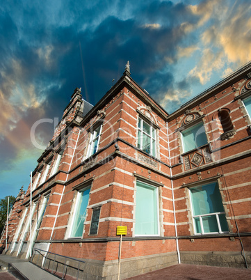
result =
[[200,280],[200,279],[226,279],[245,280],[251,279],[251,270],[241,268],[216,267],[209,265],[172,265],[136,277],[131,280],[156,280],[156,279],[179,279],[179,280]]

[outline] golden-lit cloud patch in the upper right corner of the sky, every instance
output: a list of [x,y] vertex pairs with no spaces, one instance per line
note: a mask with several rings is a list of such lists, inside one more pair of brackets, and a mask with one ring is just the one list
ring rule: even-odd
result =
[[[202,15],[198,26],[210,22],[202,32],[202,54],[195,67],[189,72],[200,84],[206,84],[213,72],[222,70],[223,75],[251,60],[251,6],[246,1],[235,2],[232,7],[224,1],[218,5],[202,3],[193,6],[193,13]],[[210,15],[210,17],[209,17]],[[232,67],[229,67],[231,65]]]

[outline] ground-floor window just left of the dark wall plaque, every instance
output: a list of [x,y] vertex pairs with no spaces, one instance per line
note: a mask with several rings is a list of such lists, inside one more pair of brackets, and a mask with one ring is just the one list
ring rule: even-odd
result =
[[89,193],[90,187],[78,192],[76,196],[72,232],[70,234],[72,238],[81,238],[83,235],[83,223],[86,220],[86,208],[89,201]]

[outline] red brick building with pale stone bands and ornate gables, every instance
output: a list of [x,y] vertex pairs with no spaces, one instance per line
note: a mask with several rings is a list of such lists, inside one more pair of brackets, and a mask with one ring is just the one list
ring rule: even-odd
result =
[[38,248],[113,279],[127,226],[122,278],[177,263],[247,267],[250,117],[251,63],[170,115],[129,64],[94,107],[76,88],[33,171],[31,206],[29,186],[13,207],[6,254]]

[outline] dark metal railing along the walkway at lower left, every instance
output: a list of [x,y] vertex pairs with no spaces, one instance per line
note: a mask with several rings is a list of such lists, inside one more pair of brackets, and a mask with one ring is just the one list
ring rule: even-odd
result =
[[[43,255],[43,254],[41,253],[41,251],[44,252],[45,254]],[[46,263],[46,260],[47,260],[48,256],[49,256],[50,254],[54,255],[54,260],[53,260],[53,265],[52,265],[51,274],[55,274],[55,273],[56,273],[56,270],[54,271],[54,264],[55,264],[55,261],[58,262],[58,263],[61,263],[61,262],[59,262],[58,260],[56,260],[56,256],[60,256],[60,257],[62,257],[62,258],[65,258],[64,268],[63,268],[63,274],[62,274],[62,278],[61,278],[61,279],[64,279],[64,277],[65,277],[65,275],[66,275],[66,272],[65,272],[65,267],[67,266],[67,264],[66,264],[66,259],[75,260],[75,261],[77,261],[77,262],[79,263],[79,265],[78,265],[78,270],[77,270],[77,273],[76,273],[76,280],[79,279],[80,263],[86,263],[86,262],[84,262],[83,260],[79,260],[79,259],[77,259],[77,258],[71,258],[71,257],[59,255],[59,254],[56,254],[56,253],[52,253],[52,252],[49,252],[49,251],[44,251],[44,250],[42,250],[42,249],[37,249],[37,248],[34,248],[34,249],[33,249],[33,254],[32,254],[32,257],[31,257],[31,263],[32,263],[33,258],[34,258],[34,256],[35,256],[35,252],[38,252],[39,256],[41,255],[41,256],[43,257],[42,263],[41,263],[41,268],[42,268],[42,269],[44,269],[44,265],[45,265],[45,263]],[[39,256],[38,256],[38,260],[39,260]],[[48,259],[51,260],[51,258],[48,258]],[[36,265],[38,265],[38,260],[37,260]],[[48,269],[49,269],[49,267],[48,267]],[[83,270],[81,270],[81,271],[83,271]]]

